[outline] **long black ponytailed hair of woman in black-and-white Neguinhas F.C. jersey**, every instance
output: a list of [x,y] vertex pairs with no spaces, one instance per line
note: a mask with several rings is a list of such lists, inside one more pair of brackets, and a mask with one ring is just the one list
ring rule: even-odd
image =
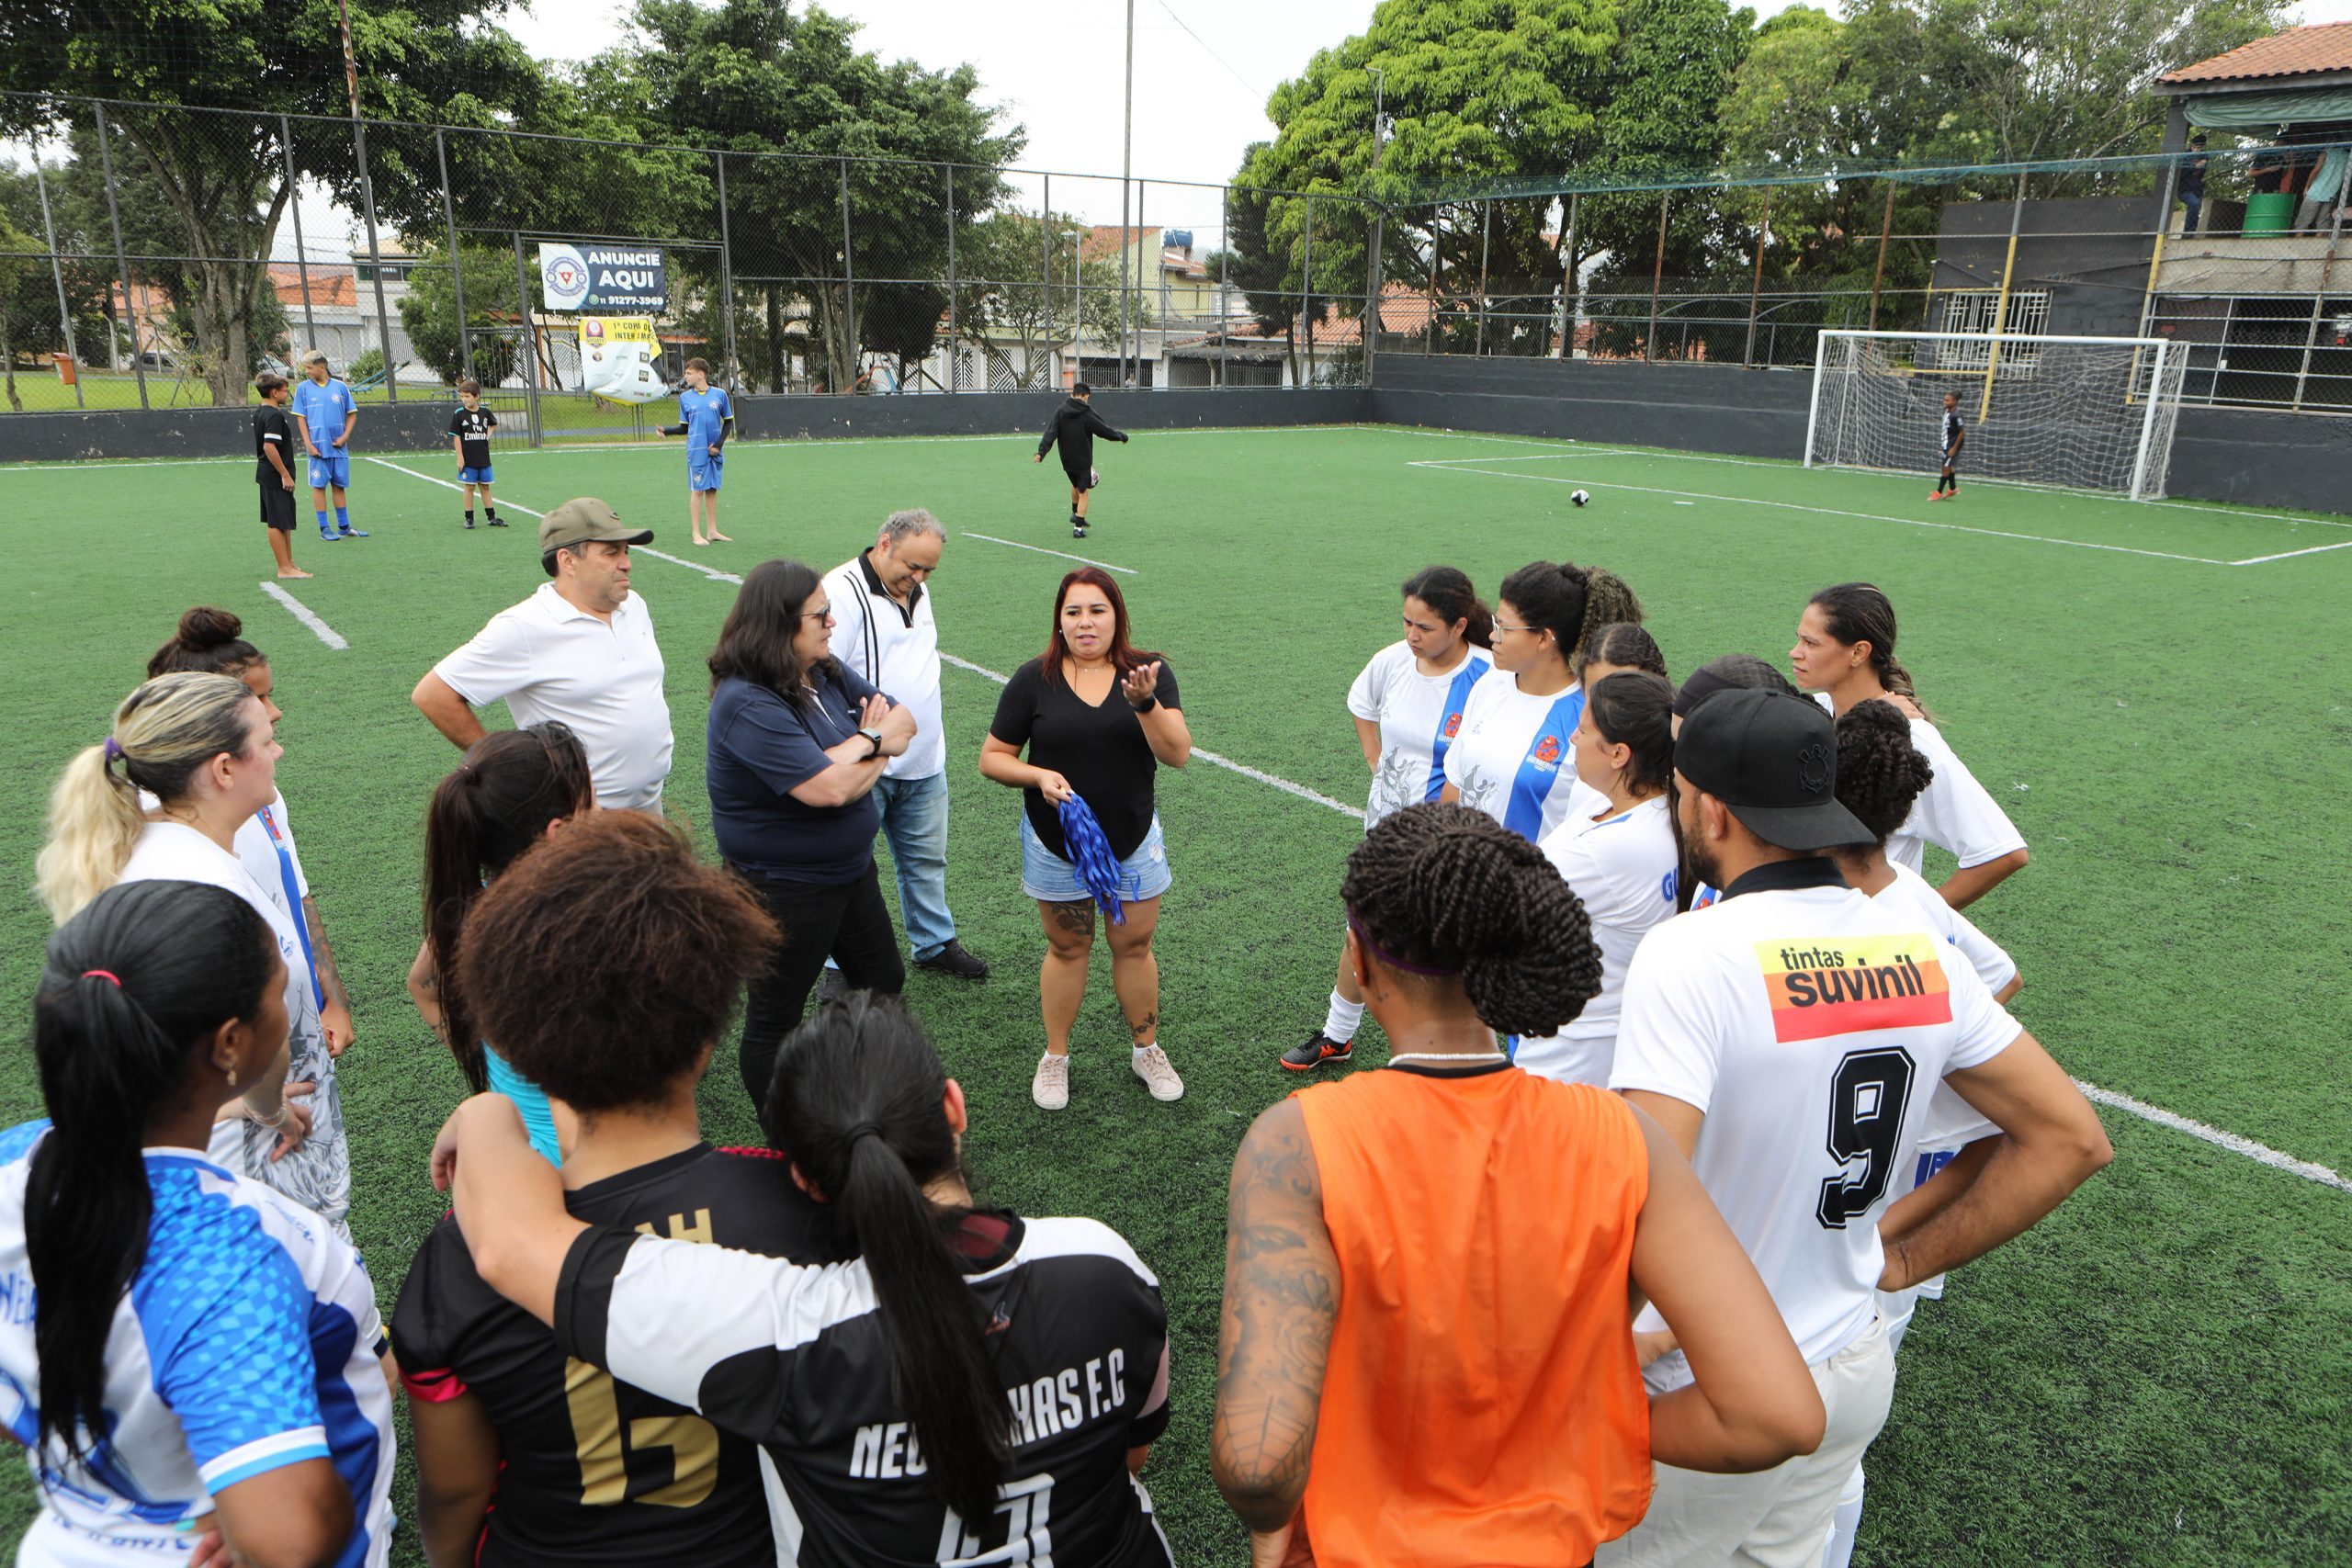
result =
[[985,1519],[1011,1467],[1011,1406],[950,1246],[964,1213],[922,1192],[960,1171],[946,1091],[938,1053],[896,997],[851,992],[783,1041],[762,1119],[866,1260],[891,1399],[922,1441],[931,1490]]

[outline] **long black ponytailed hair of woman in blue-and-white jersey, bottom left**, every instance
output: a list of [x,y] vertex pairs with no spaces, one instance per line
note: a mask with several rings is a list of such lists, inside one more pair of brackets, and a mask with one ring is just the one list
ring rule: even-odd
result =
[[106,1340],[153,1213],[148,1121],[200,1041],[259,1016],[275,966],[261,914],[195,882],[125,882],[49,938],[33,1058],[52,1128],[24,1192],[40,1443],[85,1455],[106,1432]]

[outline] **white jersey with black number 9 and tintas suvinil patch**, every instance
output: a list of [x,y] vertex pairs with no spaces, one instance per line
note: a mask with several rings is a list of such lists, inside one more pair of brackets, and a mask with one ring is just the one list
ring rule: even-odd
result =
[[1788,860],[1656,926],[1625,973],[1609,1086],[1708,1112],[1691,1168],[1809,1363],[1870,1328],[1877,1222],[1938,1079],[2018,1039],[1950,952],[1832,863]]

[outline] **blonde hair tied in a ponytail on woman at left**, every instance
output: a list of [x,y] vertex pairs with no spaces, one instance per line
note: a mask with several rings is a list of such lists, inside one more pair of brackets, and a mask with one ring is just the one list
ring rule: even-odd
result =
[[49,792],[49,842],[35,860],[35,886],[56,924],[122,877],[146,830],[139,790],[174,802],[207,762],[245,755],[252,701],[252,689],[233,675],[191,670],[158,675],[122,698],[106,743],[68,762]]

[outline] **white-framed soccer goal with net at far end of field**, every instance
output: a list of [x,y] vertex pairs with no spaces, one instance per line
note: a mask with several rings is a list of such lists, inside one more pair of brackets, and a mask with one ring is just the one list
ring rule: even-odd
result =
[[1933,475],[1952,393],[1964,480],[2154,501],[2185,369],[2183,346],[2164,339],[1830,329],[1813,350],[1804,465]]

